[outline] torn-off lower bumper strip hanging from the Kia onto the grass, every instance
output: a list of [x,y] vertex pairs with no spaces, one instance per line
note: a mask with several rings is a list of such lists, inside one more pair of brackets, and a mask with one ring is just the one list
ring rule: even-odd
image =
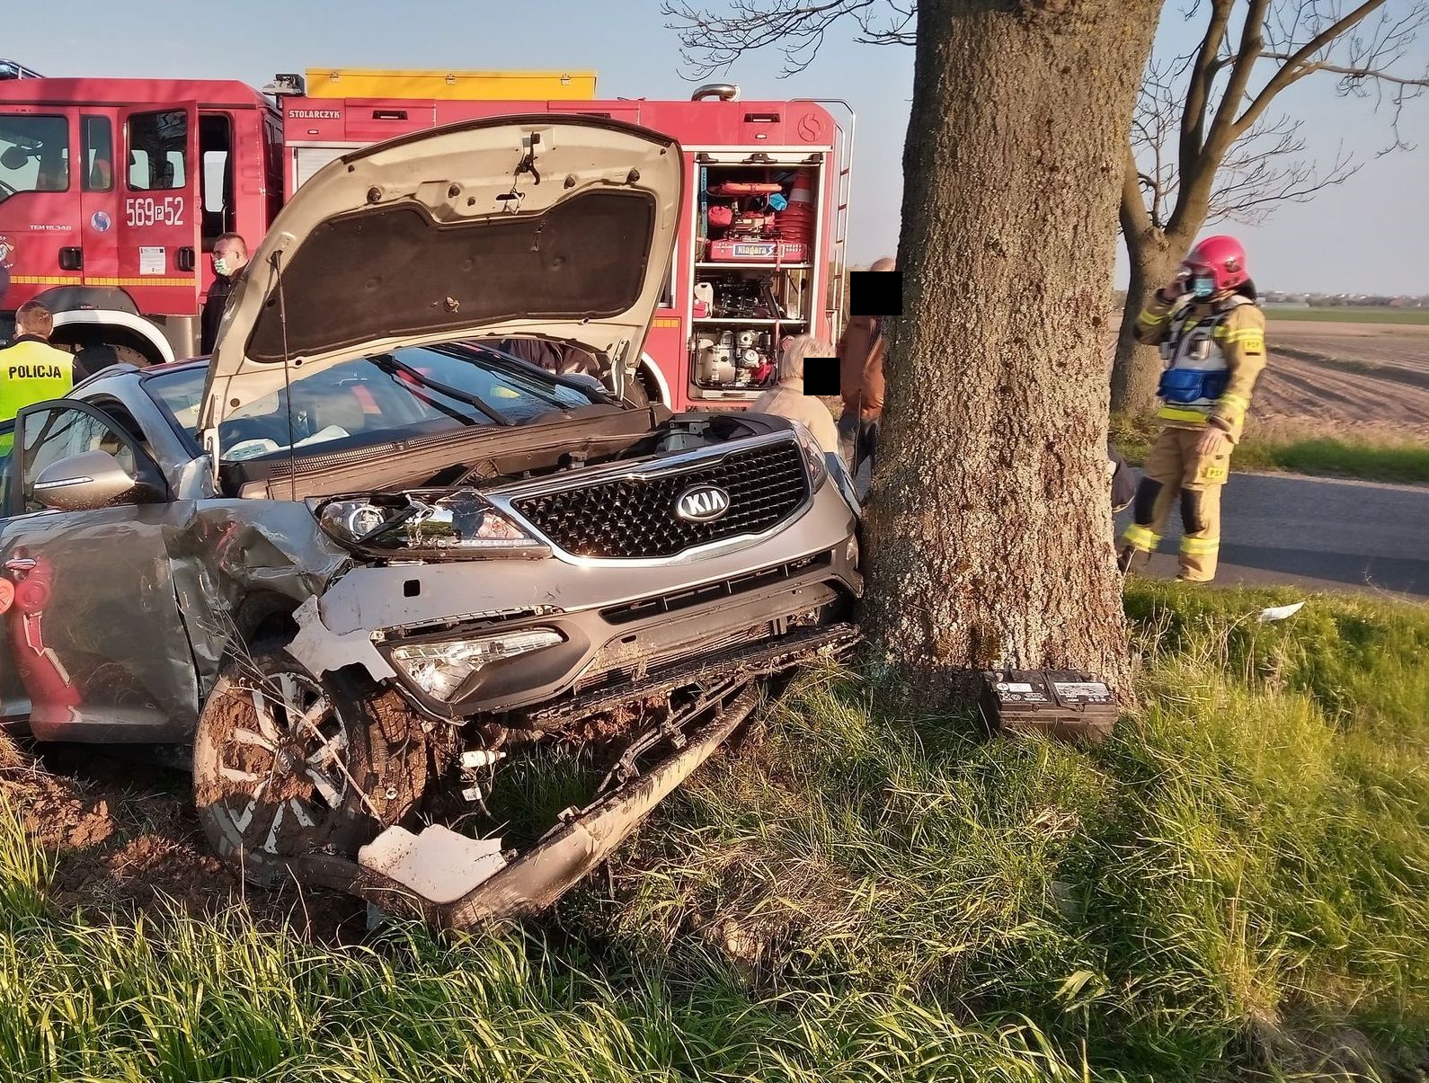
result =
[[357,862],[329,854],[293,859],[309,883],[366,899],[389,913],[420,917],[443,930],[520,917],[554,903],[594,869],[749,717],[759,702],[755,679],[816,654],[839,654],[857,642],[850,624],[803,629],[777,647],[747,649],[704,664],[652,677],[636,689],[699,684],[719,674],[723,699],[707,717],[672,742],[674,749],[637,777],[566,814],[540,842],[507,862],[496,840],[472,840],[442,826],[420,834],[389,827]]

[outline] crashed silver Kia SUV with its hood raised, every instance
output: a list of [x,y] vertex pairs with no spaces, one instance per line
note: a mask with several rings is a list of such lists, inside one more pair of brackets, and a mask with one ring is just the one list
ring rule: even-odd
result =
[[[23,410],[7,723],[189,749],[249,882],[442,926],[549,904],[857,634],[842,464],[792,421],[622,397],[680,161],[584,117],[354,151],[277,217],[211,359]],[[604,386],[482,344],[513,337]]]

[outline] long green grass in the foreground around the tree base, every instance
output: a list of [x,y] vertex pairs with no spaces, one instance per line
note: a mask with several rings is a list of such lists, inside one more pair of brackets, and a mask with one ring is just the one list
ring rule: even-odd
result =
[[94,924],[0,813],[0,1077],[1412,1079],[1429,609],[1133,580],[1145,709],[979,737],[796,684],[603,879],[454,944]]

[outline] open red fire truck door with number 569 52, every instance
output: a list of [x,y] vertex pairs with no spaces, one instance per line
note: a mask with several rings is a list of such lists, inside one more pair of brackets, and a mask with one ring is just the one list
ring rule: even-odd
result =
[[193,103],[120,110],[123,174],[119,233],[121,286],[146,314],[199,310],[199,110]]

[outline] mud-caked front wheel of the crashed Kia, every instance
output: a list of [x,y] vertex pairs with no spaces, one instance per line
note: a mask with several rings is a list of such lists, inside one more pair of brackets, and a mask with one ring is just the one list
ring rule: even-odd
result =
[[226,666],[194,733],[199,822],[260,886],[292,879],[302,854],[356,857],[414,810],[426,780],[424,734],[397,693],[319,680],[280,650]]

